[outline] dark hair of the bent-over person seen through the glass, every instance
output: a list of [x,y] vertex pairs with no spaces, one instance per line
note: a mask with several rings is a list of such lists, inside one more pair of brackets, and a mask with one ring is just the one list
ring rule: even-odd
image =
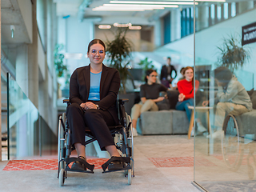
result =
[[219,66],[214,70],[214,78],[216,78],[219,82],[224,83],[225,85],[230,82],[232,77],[233,74],[231,70],[229,70],[225,66]]

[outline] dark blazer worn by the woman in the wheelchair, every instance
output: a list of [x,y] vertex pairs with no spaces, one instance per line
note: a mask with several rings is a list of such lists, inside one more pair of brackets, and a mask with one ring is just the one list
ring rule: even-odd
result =
[[[118,123],[118,115],[115,107],[118,90],[120,87],[120,74],[118,70],[102,66],[102,77],[100,82],[100,110],[110,112],[114,121]],[[90,65],[82,66],[74,70],[70,78],[70,102],[78,103],[88,101],[90,92]]]

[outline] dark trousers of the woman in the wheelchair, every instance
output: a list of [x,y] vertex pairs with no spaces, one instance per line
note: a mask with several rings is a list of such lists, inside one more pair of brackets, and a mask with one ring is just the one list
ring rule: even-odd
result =
[[97,139],[102,150],[105,150],[105,146],[114,145],[114,139],[108,126],[115,126],[115,123],[108,111],[83,111],[77,103],[72,103],[67,107],[66,115],[70,126],[72,145],[76,142],[86,145],[86,127]]

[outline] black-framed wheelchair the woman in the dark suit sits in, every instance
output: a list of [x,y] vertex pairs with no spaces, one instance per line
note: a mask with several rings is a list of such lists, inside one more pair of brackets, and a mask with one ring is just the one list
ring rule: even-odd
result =
[[[132,132],[131,119],[126,114],[124,104],[128,99],[117,99],[117,113],[119,124],[117,126],[109,126],[110,133],[114,138],[115,146],[121,154],[122,162],[125,167],[122,169],[124,175],[128,178],[128,184],[131,184],[131,178],[134,177],[134,137]],[[69,99],[64,99],[64,103],[70,105]],[[90,139],[86,141],[86,145],[96,141],[96,138],[91,134],[89,129],[86,129],[86,136]],[[63,113],[58,120],[58,179],[59,185],[64,186],[68,171],[84,172],[94,174],[94,165],[90,165],[82,158],[71,158],[71,151],[74,150],[70,144],[70,127],[66,113]],[[114,159],[112,159],[113,161]],[[86,170],[72,170],[70,169],[71,162],[82,162],[86,166]],[[120,171],[120,170],[106,170],[110,160],[102,165],[102,173]]]

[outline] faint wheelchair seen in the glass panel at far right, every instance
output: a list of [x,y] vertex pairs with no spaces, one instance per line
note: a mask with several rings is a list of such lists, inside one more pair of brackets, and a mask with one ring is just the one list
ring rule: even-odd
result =
[[[254,178],[254,168],[250,165],[250,158],[253,159],[254,166],[256,166],[256,159],[254,157],[254,142],[245,142],[245,134],[254,134],[253,127],[242,126],[241,118],[238,115],[227,114],[223,122],[222,130],[222,157],[229,170],[236,171],[242,164],[242,159],[245,150],[249,151],[247,155],[248,176],[250,179]],[[255,140],[255,138],[254,138]]]

